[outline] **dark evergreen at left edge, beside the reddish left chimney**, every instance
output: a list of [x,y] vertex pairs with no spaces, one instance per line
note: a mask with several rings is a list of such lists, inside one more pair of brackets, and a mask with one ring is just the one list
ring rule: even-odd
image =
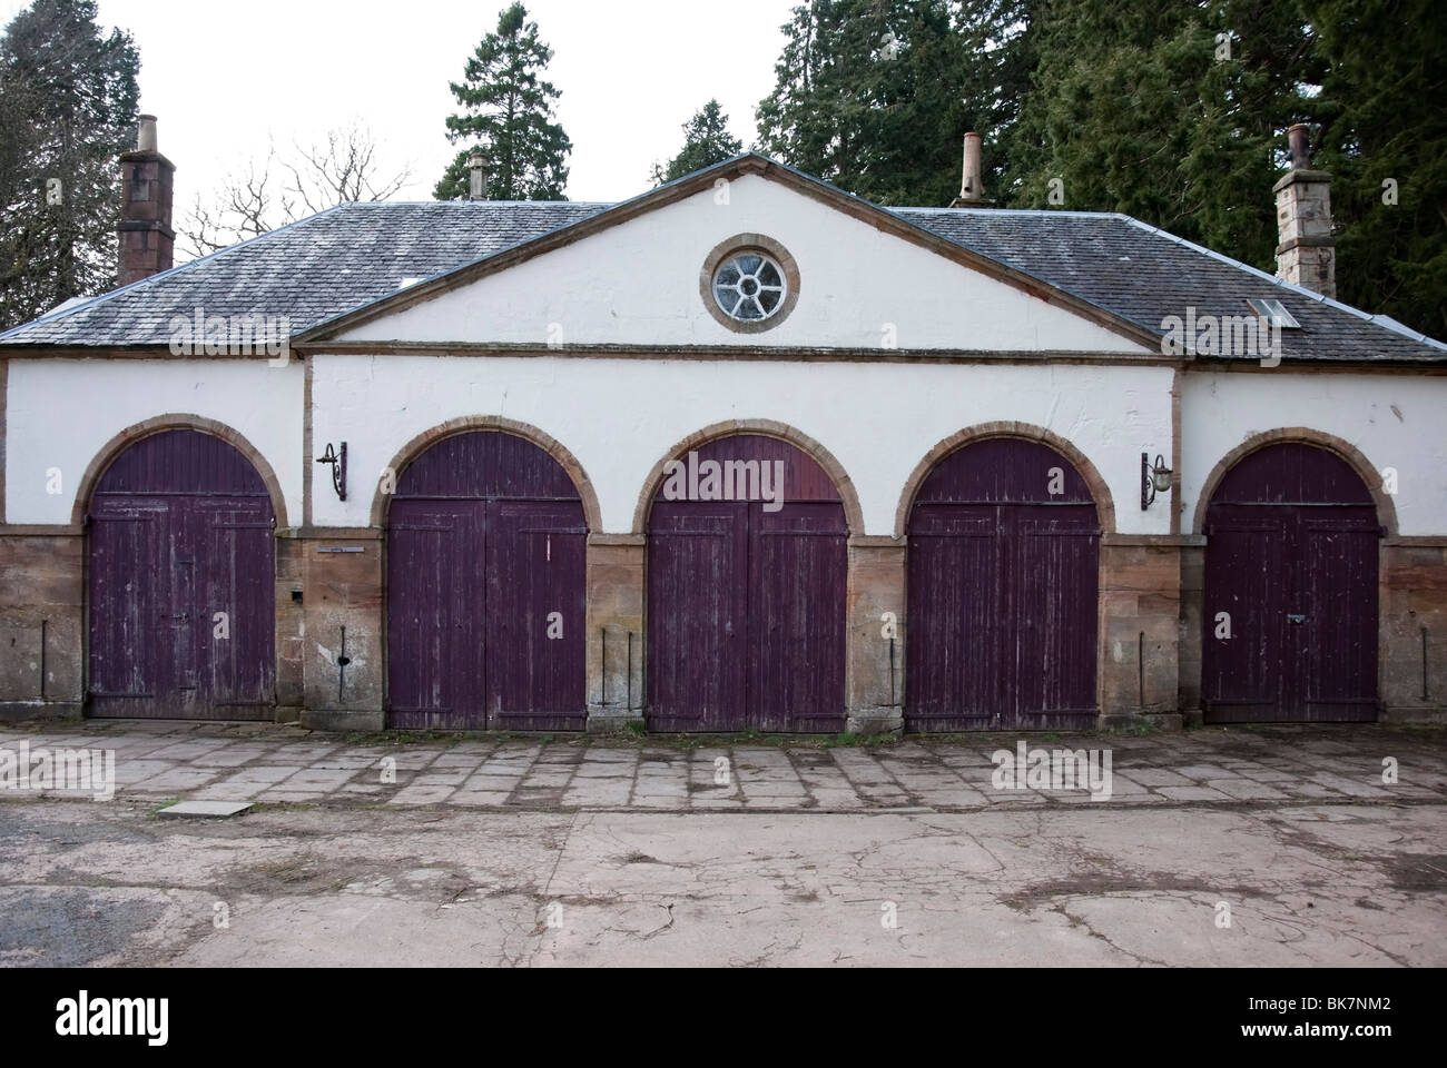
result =
[[35,0],[0,38],[0,329],[116,282],[140,58],[94,0]]

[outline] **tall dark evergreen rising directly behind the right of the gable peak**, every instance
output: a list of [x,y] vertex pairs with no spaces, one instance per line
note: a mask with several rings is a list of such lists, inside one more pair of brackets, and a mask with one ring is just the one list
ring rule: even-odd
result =
[[959,191],[965,38],[946,0],[809,0],[784,25],[760,146],[878,204]]

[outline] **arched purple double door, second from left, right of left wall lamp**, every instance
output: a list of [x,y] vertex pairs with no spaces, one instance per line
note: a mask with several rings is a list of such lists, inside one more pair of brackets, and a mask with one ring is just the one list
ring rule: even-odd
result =
[[587,522],[567,472],[501,431],[444,438],[388,517],[392,726],[579,731]]

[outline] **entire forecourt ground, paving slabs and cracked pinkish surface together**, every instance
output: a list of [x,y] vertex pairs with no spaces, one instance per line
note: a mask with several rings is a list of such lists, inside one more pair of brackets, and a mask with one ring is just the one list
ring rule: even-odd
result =
[[[246,767],[315,773],[349,751],[359,766],[307,800],[268,800],[269,780],[227,821],[156,816],[145,779],[109,803],[0,792],[0,965],[1447,964],[1441,729],[1027,735],[1111,748],[1117,779],[1140,786],[1111,800],[993,790],[988,753],[1014,737],[355,744],[255,729],[0,732],[12,748],[114,744],[117,771],[185,742],[171,732],[227,739],[195,750],[211,758],[265,750],[224,754],[223,774],[168,796]],[[372,750],[407,780],[343,790],[378,777]],[[715,800],[737,803],[710,810],[697,802],[718,786],[715,754],[732,771]],[[499,758],[525,764],[515,783],[463,789],[496,779]],[[1139,783],[1172,776],[1191,792]],[[614,786],[574,790],[593,780]],[[1272,794],[1220,789],[1236,780]],[[803,796],[777,786],[793,781]],[[451,792],[404,796],[420,784]]]

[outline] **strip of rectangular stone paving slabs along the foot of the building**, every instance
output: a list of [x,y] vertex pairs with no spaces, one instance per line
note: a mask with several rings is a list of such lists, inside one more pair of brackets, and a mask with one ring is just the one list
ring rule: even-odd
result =
[[[1108,797],[1084,779],[996,783],[993,755],[1111,760]],[[88,721],[12,725],[0,750],[114,755],[114,796],[320,806],[577,810],[891,812],[1106,803],[1434,803],[1447,799],[1447,729],[1310,725],[1184,734],[706,739],[518,735],[341,737],[295,725]],[[1383,781],[1383,760],[1396,781]],[[1389,761],[1388,761],[1389,763]],[[1045,773],[1049,771],[1049,760]],[[1103,767],[1103,766],[1101,766]],[[1103,783],[1097,781],[1097,787]],[[41,784],[9,797],[77,796]]]

